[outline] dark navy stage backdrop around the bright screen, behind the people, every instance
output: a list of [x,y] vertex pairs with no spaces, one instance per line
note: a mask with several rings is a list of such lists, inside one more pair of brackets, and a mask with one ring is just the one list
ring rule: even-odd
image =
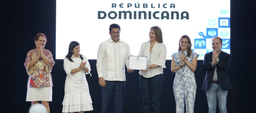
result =
[[[255,17],[256,9],[253,6],[254,4],[255,1],[254,3],[249,3],[247,1],[231,0],[232,62],[229,76],[234,89],[228,91],[228,112],[253,112],[255,108],[255,60],[252,57],[255,55],[255,35],[253,35],[255,33],[255,22],[253,21],[255,20],[253,18]],[[35,48],[33,37],[39,32],[47,36],[48,41],[45,49],[49,49],[55,56],[56,1],[1,1],[0,42],[2,65],[0,74],[0,112],[28,112],[31,102],[26,102],[28,75],[23,63],[27,52]],[[86,33],[88,31],[85,31],[85,35]],[[95,39],[95,41],[98,40]],[[98,47],[98,45],[95,46]],[[86,50],[81,50],[84,55],[90,54],[83,51]],[[54,84],[53,99],[52,102],[49,102],[49,105],[52,113],[60,113],[62,111],[66,74],[63,69],[63,60],[55,60],[55,62],[51,72]],[[102,97],[100,85],[98,84],[96,60],[89,60],[89,62],[91,64],[92,77],[86,76],[86,78],[93,101],[94,110],[91,113],[99,113],[101,111]],[[202,60],[198,60],[195,71],[197,84],[195,113],[208,111],[206,94],[201,90],[206,72],[202,71],[201,65]],[[175,73],[170,70],[171,60],[166,61],[166,66],[163,76],[160,111],[161,113],[172,113],[175,112],[175,99],[172,88]],[[126,73],[126,78],[124,113],[141,113],[143,100],[138,71],[132,74]]]

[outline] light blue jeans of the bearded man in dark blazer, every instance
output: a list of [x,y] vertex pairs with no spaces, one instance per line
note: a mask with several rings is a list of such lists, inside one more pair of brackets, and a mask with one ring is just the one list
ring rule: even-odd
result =
[[221,90],[219,84],[211,83],[209,90],[206,92],[207,102],[209,106],[208,113],[216,113],[217,99],[219,104],[219,112],[227,113],[227,94],[228,90]]

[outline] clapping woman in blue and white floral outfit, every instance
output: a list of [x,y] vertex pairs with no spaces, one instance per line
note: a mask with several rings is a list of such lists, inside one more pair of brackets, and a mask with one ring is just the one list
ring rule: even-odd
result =
[[187,35],[179,40],[177,53],[171,55],[171,71],[175,72],[173,92],[176,102],[176,113],[184,113],[184,101],[186,112],[194,112],[196,98],[196,70],[198,54],[191,49],[191,41]]

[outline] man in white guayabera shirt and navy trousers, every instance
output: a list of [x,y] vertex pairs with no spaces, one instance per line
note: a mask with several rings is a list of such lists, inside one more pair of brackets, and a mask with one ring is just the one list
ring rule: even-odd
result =
[[[97,71],[102,93],[102,113],[108,113],[110,102],[114,99],[114,112],[123,113],[123,96],[125,90],[125,64],[128,69],[130,47],[119,39],[120,26],[109,26],[110,39],[100,44],[97,56]],[[133,72],[128,69],[128,72]]]

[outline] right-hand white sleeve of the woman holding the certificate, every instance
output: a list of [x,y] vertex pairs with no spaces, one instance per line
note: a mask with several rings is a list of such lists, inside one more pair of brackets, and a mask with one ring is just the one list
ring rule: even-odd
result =
[[166,68],[166,66],[165,66],[166,53],[167,53],[166,46],[165,46],[165,44],[163,44],[162,47],[161,47],[161,51],[160,51],[158,61],[156,61],[154,64],[156,64],[158,66],[163,66],[163,68]]

